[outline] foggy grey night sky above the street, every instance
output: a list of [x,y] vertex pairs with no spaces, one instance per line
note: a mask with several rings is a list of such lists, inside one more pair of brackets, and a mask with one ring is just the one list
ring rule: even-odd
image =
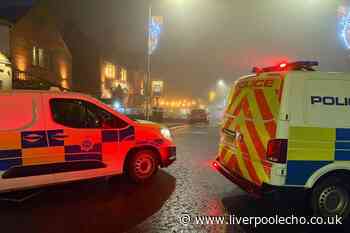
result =
[[[131,54],[145,67],[146,0],[55,2],[100,46]],[[153,1],[154,15],[164,16],[165,24],[152,72],[168,82],[170,95],[205,96],[219,78],[231,83],[253,66],[281,60],[319,60],[321,70],[350,71],[350,51],[337,28],[345,0],[182,2]]]

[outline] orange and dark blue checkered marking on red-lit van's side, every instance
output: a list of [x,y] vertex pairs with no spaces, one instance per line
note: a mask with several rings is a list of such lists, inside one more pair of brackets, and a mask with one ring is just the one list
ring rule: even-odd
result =
[[0,133],[0,171],[14,166],[41,165],[80,160],[103,160],[118,142],[135,139],[135,129],[48,130]]

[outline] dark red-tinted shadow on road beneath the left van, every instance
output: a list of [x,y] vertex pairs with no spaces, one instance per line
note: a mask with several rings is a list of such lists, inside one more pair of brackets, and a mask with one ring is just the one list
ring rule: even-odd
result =
[[124,232],[157,212],[174,188],[163,171],[143,185],[116,177],[51,187],[23,203],[1,202],[1,231]]

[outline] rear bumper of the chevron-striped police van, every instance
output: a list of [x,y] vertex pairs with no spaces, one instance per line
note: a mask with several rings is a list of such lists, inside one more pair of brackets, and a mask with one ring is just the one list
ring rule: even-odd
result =
[[266,183],[263,183],[262,185],[257,185],[255,183],[252,183],[246,179],[244,179],[242,176],[239,176],[237,174],[234,174],[233,172],[228,171],[223,165],[220,164],[219,161],[216,161],[217,166],[215,166],[215,169],[221,173],[223,176],[225,176],[227,179],[229,179],[232,183],[239,186],[241,189],[249,193],[250,195],[261,198],[263,196],[266,196],[268,194],[273,194],[277,192],[290,192],[290,191],[305,191],[306,189],[303,187],[287,187],[287,186],[273,186]]

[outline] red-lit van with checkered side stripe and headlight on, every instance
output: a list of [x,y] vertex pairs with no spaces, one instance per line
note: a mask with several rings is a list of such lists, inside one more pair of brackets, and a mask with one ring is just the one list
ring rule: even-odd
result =
[[127,173],[176,159],[169,129],[78,93],[0,91],[0,192]]

